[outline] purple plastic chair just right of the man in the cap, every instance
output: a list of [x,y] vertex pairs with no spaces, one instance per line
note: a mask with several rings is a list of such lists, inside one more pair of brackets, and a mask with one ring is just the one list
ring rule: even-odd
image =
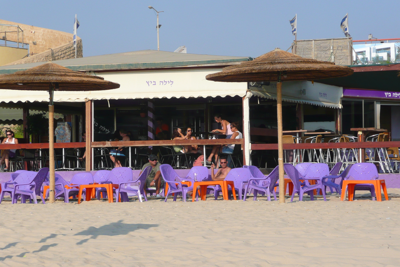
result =
[[172,169],[171,165],[169,164],[162,164],[160,166],[160,171],[162,178],[164,178],[164,181],[168,183],[168,192],[166,192],[165,194],[164,202],[167,202],[168,195],[172,193],[174,193],[174,201],[176,201],[176,197],[179,194],[182,195],[182,201],[186,202],[186,193],[193,190],[193,183],[190,187],[188,187],[187,185],[182,185],[182,183],[180,182],[182,178],[179,177],[179,175],[175,172],[174,169]]

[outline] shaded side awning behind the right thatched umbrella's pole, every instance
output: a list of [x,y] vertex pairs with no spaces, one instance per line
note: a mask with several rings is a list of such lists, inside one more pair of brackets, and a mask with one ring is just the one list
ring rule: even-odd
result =
[[[250,87],[250,92],[255,96],[276,99],[276,82],[269,86]],[[311,81],[282,82],[282,100],[330,108],[342,108],[340,98],[343,88]]]

